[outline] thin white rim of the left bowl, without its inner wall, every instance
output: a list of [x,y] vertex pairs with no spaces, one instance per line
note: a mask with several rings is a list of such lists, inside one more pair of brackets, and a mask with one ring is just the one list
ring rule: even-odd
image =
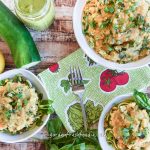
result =
[[[49,99],[49,96],[48,96],[48,93],[47,93],[47,90],[46,90],[46,88],[43,86],[43,84],[42,84],[42,82],[39,80],[39,78],[36,76],[36,75],[34,75],[32,72],[30,72],[30,71],[28,71],[28,70],[26,70],[26,69],[13,69],[13,70],[9,70],[9,71],[6,71],[6,72],[4,72],[4,73],[2,73],[2,74],[0,74],[0,80],[3,80],[3,79],[6,79],[4,76],[6,75],[8,75],[8,76],[13,76],[13,75],[17,75],[17,74],[21,74],[22,73],[22,75],[24,75],[23,74],[23,72],[24,73],[26,73],[26,74],[28,74],[28,75],[30,75],[32,78],[34,78],[34,80],[36,80],[36,82],[43,88],[43,90],[44,90],[44,92],[45,92],[45,97],[47,97],[48,99]],[[2,79],[1,79],[2,78]],[[30,80],[30,79],[29,79]],[[13,140],[13,141],[8,141],[8,140],[0,140],[1,142],[4,142],[4,143],[18,143],[18,142],[23,142],[23,141],[25,141],[25,140],[27,140],[27,139],[29,139],[29,138],[31,138],[31,137],[33,137],[35,134],[37,134],[38,132],[40,132],[42,129],[43,129],[43,127],[46,125],[46,123],[48,122],[48,120],[49,120],[49,117],[50,117],[50,115],[45,115],[45,117],[44,117],[44,120],[43,120],[43,124],[41,125],[41,126],[39,126],[39,127],[37,127],[37,129],[35,130],[35,131],[33,131],[31,134],[29,134],[28,136],[26,136],[26,137],[24,137],[24,138],[19,138],[18,140]],[[23,132],[23,133],[25,133],[25,132]],[[19,135],[19,134],[18,134]],[[11,136],[11,135],[10,135]],[[13,135],[12,135],[13,136]],[[13,137],[12,137],[13,138]]]

